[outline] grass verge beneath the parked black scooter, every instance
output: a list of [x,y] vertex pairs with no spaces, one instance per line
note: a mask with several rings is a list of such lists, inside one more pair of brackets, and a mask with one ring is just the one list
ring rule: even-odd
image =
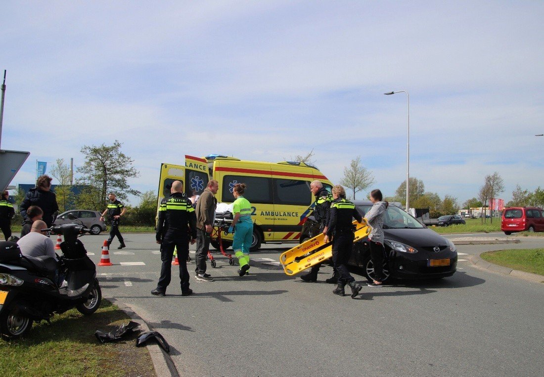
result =
[[90,316],[72,309],[34,323],[24,339],[0,340],[2,376],[154,376],[146,347],[135,346],[133,334],[117,343],[97,341],[96,330],[111,331],[128,322],[107,300]]

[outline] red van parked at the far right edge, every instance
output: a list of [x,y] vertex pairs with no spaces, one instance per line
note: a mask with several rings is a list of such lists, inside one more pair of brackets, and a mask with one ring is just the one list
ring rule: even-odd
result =
[[544,231],[544,211],[536,207],[509,207],[503,211],[500,230],[506,235],[528,230]]

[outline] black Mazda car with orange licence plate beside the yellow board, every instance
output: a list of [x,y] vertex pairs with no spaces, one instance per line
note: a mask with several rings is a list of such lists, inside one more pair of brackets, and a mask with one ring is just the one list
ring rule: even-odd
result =
[[[355,200],[364,214],[372,207],[368,200]],[[301,242],[316,234],[318,223],[308,217],[302,227]],[[390,204],[384,218],[384,275],[399,279],[438,279],[452,276],[457,268],[457,252],[452,241],[419,223],[409,213]],[[366,277],[374,277],[368,238],[354,243],[349,264],[364,268]]]

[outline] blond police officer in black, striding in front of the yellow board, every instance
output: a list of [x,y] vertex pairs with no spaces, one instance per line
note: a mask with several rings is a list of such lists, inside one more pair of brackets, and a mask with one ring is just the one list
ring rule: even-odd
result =
[[362,286],[350,275],[347,263],[355,238],[353,218],[361,222],[362,216],[355,209],[355,204],[345,198],[344,187],[341,185],[332,187],[332,197],[334,200],[331,204],[329,227],[324,240],[329,242],[332,237],[332,261],[339,274],[338,285],[332,292],[344,296],[344,287],[349,285],[351,298],[355,298]]

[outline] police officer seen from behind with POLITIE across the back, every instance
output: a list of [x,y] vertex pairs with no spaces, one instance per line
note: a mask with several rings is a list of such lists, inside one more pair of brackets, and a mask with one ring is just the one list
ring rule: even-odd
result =
[[[181,296],[189,296],[193,290],[189,288],[189,272],[187,257],[190,243],[196,242],[196,213],[190,200],[183,193],[181,181],[174,181],[172,193],[160,202],[159,221],[157,224],[157,243],[160,243],[160,278],[157,288],[151,291],[155,296],[165,296],[166,287],[171,280],[172,257],[174,248],[177,249],[177,259],[180,261]],[[188,226],[189,225],[189,226]]]

